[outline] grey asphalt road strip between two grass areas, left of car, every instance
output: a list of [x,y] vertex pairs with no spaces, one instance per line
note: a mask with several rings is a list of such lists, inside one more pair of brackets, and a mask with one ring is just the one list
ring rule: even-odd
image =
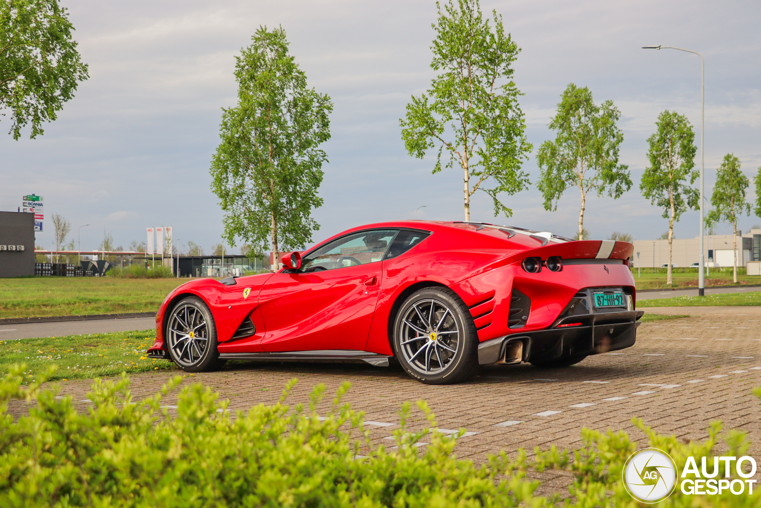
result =
[[148,330],[155,318],[94,319],[53,323],[0,324],[0,340],[59,337],[64,335],[108,334],[114,331]]

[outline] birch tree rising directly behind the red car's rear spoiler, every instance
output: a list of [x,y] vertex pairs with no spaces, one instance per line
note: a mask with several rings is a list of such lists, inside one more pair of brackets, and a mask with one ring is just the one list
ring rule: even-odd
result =
[[555,141],[545,141],[537,153],[541,170],[537,185],[544,197],[544,209],[554,212],[558,200],[569,187],[581,193],[578,214],[578,239],[584,236],[584,212],[587,194],[607,193],[618,199],[632,187],[629,166],[619,165],[619,145],[623,133],[616,126],[621,113],[613,101],[594,104],[589,88],[571,83],[562,94],[549,128],[555,130]]

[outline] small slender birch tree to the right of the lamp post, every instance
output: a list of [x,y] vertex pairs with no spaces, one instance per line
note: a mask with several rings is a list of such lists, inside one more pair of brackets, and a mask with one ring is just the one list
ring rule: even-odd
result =
[[737,219],[750,214],[750,204],[745,200],[745,191],[750,185],[748,177],[740,171],[740,159],[734,154],[724,155],[724,161],[716,170],[716,183],[711,195],[714,209],[705,218],[710,227],[717,222],[727,222],[732,226],[734,270],[732,280],[737,282]]

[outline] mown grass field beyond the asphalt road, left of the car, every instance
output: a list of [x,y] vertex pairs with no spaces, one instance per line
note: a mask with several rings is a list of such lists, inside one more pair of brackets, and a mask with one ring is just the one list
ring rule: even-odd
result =
[[188,279],[24,277],[0,279],[0,318],[156,312]]

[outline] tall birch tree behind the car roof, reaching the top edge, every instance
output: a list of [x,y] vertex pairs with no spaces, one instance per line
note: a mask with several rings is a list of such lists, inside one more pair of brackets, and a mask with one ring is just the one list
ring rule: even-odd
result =
[[[512,79],[512,63],[520,52],[510,34],[505,34],[496,11],[494,27],[483,18],[478,0],[450,0],[438,8],[438,21],[431,24],[436,38],[431,51],[431,69],[441,71],[431,88],[412,96],[406,117],[400,119],[402,139],[416,158],[436,149],[433,173],[441,171],[446,152],[447,168],[454,162],[464,172],[465,220],[470,220],[470,196],[476,190],[489,194],[494,215],[511,216],[512,210],[498,199],[499,193],[524,190],[528,174],[521,171],[531,152],[524,114],[518,106],[521,92]],[[471,179],[476,183],[471,185]],[[494,187],[483,187],[494,181]]]

